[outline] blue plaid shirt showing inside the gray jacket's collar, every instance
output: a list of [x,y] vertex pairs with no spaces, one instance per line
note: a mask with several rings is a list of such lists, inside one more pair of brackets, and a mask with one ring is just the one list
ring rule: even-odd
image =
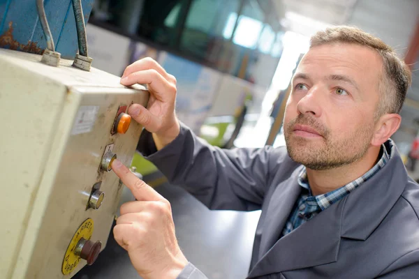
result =
[[[390,146],[392,146],[392,140],[388,141]],[[374,174],[376,174],[378,170],[380,170],[390,158],[388,150],[385,148],[384,144],[381,149],[383,150],[381,159],[363,176],[355,179],[351,183],[348,183],[341,188],[332,190],[331,192],[325,193],[323,195],[318,195],[316,197],[311,195],[309,181],[307,180],[307,171],[304,167],[298,177],[298,183],[302,187],[300,198],[297,199],[297,202],[295,202],[294,209],[291,212],[291,215],[288,217],[288,221],[282,231],[282,236],[289,234],[293,231],[293,229],[297,229],[297,227],[306,223],[311,218],[314,218],[314,216],[327,209],[332,204],[335,204],[335,202],[339,202],[340,199],[346,197],[346,195],[355,190],[355,188],[359,187],[362,183],[374,176]]]

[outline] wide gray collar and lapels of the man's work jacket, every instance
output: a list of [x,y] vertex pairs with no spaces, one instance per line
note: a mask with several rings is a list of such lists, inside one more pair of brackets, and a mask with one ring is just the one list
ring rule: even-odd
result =
[[395,146],[387,144],[387,147],[391,149],[390,160],[371,179],[278,240],[300,193],[297,190],[301,188],[297,183],[300,167],[290,179],[280,183],[267,206],[260,260],[251,269],[249,278],[336,262],[341,237],[367,239],[406,186],[402,159]]

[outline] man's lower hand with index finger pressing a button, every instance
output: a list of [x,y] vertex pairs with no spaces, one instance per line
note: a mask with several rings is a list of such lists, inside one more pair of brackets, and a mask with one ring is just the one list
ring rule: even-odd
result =
[[137,199],[121,206],[115,240],[142,278],[177,278],[188,261],[177,244],[170,203],[119,160],[112,169]]

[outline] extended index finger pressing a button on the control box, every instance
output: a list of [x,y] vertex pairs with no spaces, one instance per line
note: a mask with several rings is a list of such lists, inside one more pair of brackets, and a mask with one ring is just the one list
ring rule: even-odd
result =
[[119,179],[125,184],[126,187],[131,190],[135,199],[139,201],[160,201],[164,199],[162,195],[156,192],[152,187],[148,186],[147,183],[138,179],[135,174],[125,167],[121,161],[115,159],[112,162],[112,170],[117,174]]

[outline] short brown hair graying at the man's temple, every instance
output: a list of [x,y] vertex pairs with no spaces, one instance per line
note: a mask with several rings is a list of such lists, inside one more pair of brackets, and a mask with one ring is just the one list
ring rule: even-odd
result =
[[399,114],[411,85],[411,71],[392,47],[356,27],[337,26],[314,34],[310,39],[310,48],[331,43],[362,45],[376,50],[383,59],[383,75],[378,80],[380,101],[376,107],[376,119],[387,113]]

